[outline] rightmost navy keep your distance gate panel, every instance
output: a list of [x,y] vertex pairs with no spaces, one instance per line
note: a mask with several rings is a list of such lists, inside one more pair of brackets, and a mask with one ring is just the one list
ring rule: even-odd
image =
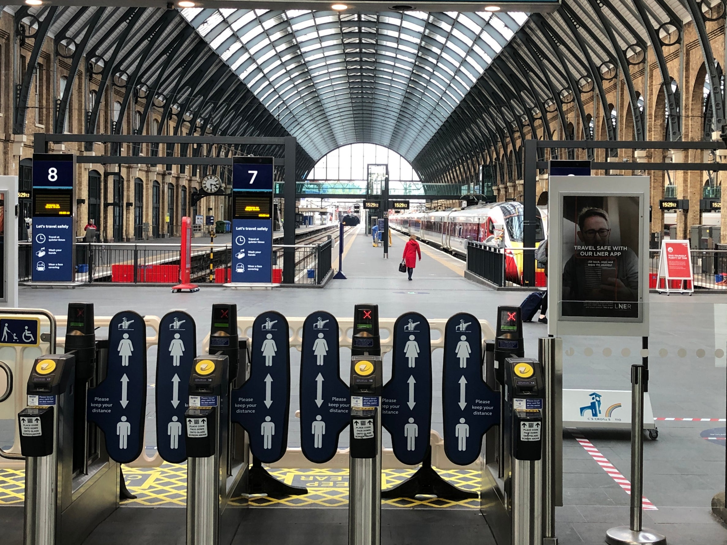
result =
[[454,314],[444,329],[442,412],[444,452],[454,464],[472,464],[482,436],[499,424],[499,392],[482,379],[482,328],[472,314]]

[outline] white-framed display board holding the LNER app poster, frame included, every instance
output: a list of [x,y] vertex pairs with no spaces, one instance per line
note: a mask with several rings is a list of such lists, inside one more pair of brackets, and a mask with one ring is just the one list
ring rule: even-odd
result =
[[550,176],[550,335],[648,335],[648,176]]

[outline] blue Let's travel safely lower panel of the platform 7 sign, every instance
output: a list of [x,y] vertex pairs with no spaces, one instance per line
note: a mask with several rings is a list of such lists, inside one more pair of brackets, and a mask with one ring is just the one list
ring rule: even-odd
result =
[[232,281],[271,282],[273,222],[232,220]]

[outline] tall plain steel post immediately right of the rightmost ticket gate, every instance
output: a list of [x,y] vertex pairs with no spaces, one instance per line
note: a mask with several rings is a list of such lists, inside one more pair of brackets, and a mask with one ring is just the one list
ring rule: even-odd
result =
[[563,339],[539,338],[538,359],[545,375],[542,543],[558,545],[555,507],[563,505]]

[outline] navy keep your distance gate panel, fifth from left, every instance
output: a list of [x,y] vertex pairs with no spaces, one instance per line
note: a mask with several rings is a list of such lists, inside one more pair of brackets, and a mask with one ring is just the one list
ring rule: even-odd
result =
[[429,322],[418,312],[402,314],[394,324],[393,365],[382,394],[381,423],[391,434],[398,461],[420,464],[432,427],[432,351]]

